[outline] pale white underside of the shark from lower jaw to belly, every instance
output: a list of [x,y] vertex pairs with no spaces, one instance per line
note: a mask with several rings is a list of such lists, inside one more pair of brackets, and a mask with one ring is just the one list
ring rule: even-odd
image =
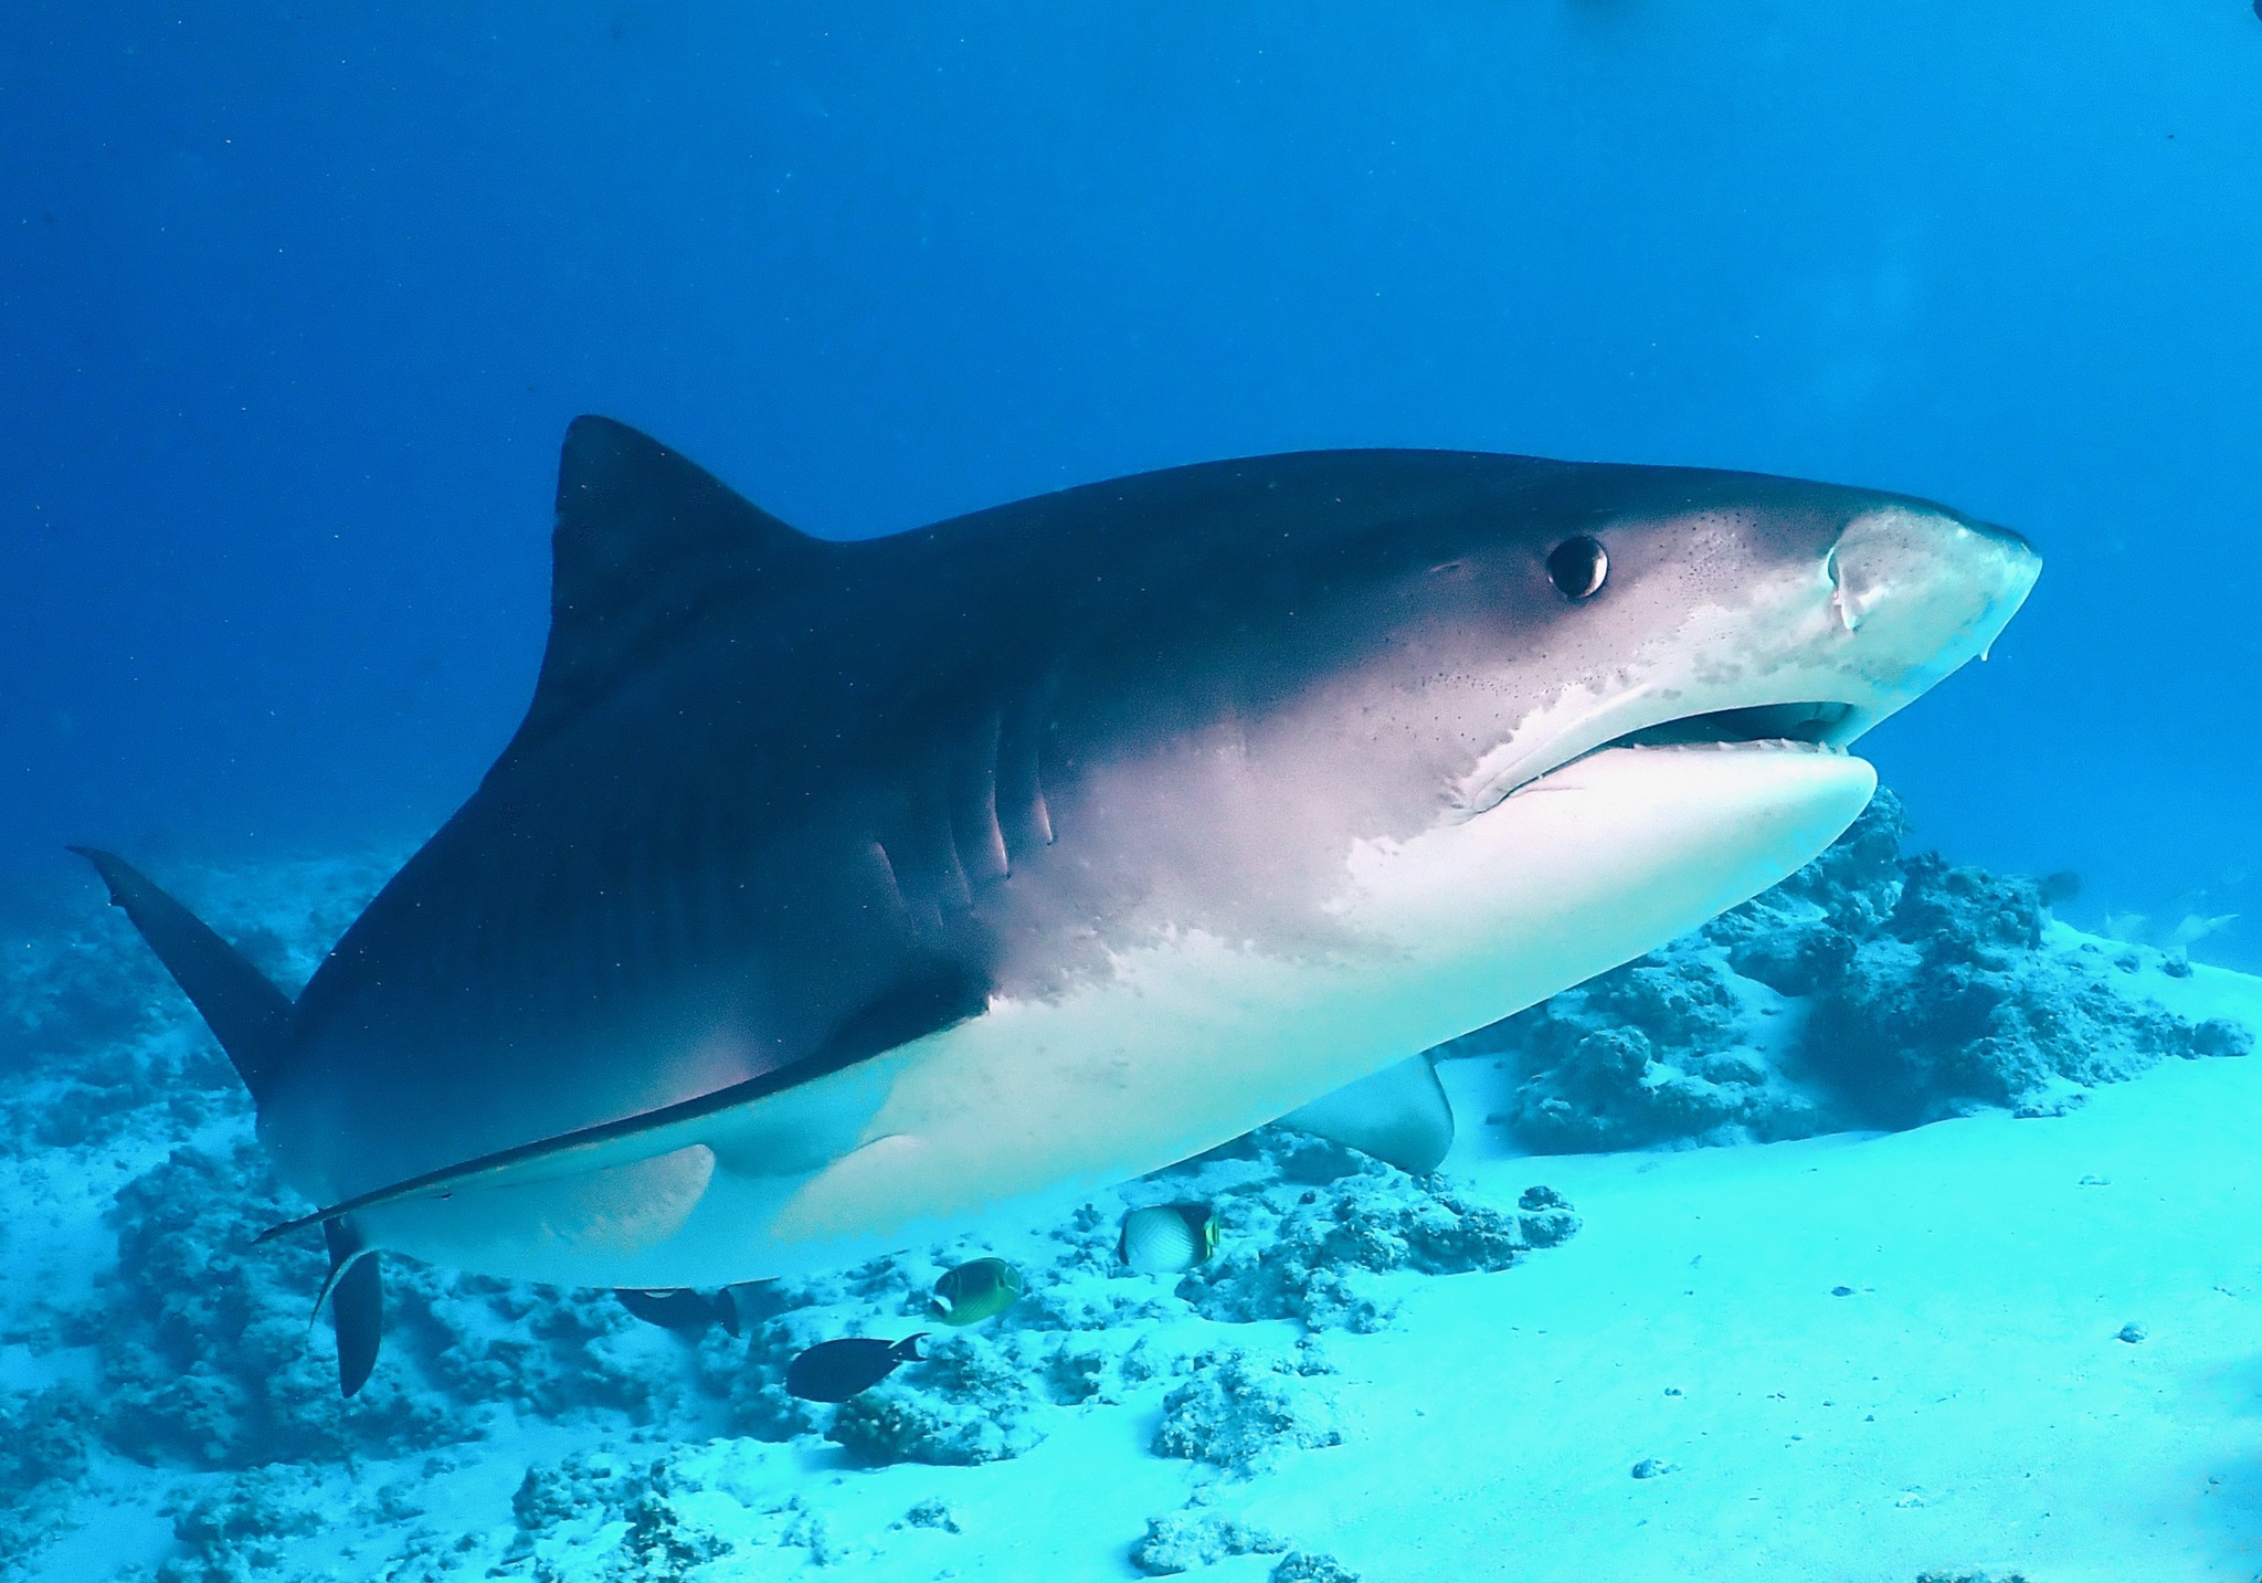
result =
[[622,1287],[943,1237],[1217,1147],[1638,957],[1812,862],[1875,785],[1864,760],[1801,742],[1592,751],[1482,816],[1357,844],[1346,950],[1188,932],[633,1158],[362,1219],[434,1262]]

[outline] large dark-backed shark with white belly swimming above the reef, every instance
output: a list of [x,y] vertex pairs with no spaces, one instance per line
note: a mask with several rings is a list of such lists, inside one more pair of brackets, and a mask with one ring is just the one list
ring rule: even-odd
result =
[[1905,495],[1425,450],[837,543],[579,418],[527,717],[296,1002],[86,855],[323,1205],[276,1232],[351,1395],[382,1251],[713,1289],[1280,1117],[1430,1169],[1421,1052],[1816,857],[2038,570]]

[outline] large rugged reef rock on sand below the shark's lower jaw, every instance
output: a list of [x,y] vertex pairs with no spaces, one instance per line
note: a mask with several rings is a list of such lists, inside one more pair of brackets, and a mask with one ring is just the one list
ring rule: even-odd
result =
[[2049,1115],[2165,1056],[2246,1054],[2228,1022],[2131,993],[2169,959],[2056,929],[2031,880],[1902,853],[1891,792],[1773,891],[1450,1045],[1518,1079],[1540,1151]]

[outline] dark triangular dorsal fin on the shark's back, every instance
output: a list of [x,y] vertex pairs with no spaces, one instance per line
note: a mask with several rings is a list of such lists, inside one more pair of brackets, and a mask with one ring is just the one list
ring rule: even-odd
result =
[[602,697],[722,592],[798,579],[830,550],[611,418],[566,430],[556,509],[550,647],[525,730]]

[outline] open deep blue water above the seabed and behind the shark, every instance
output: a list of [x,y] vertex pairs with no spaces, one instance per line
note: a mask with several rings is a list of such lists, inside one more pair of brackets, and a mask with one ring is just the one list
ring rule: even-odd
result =
[[1353,443],[1948,500],[2049,579],[1880,742],[1920,828],[2253,911],[2237,5],[0,27],[9,871],[430,830],[606,412],[826,536]]

